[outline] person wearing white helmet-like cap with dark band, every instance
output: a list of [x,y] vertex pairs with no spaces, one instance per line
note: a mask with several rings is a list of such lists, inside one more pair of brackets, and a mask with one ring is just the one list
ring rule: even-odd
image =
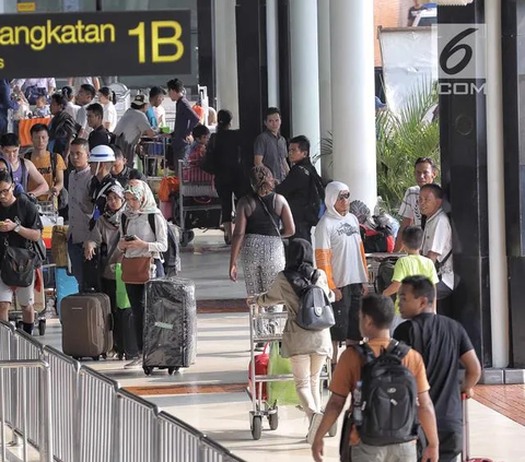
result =
[[90,153],[90,167],[93,179],[90,185],[90,196],[93,202],[93,216],[90,221],[90,232],[106,209],[109,188],[120,183],[113,177],[112,167],[115,163],[114,151],[104,144],[94,147]]

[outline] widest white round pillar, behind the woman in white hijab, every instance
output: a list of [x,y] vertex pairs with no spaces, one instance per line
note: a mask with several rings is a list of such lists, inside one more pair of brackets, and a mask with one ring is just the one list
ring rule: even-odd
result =
[[330,0],[334,179],[371,210],[377,201],[374,2]]

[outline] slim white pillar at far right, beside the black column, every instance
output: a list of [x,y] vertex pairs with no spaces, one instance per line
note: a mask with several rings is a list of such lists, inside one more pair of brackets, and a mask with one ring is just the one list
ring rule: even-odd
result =
[[489,210],[490,327],[493,367],[509,366],[509,281],[505,246],[501,0],[486,2],[487,174]]

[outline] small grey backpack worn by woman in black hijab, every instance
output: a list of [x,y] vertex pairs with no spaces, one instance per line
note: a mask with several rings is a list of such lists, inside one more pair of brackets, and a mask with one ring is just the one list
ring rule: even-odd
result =
[[336,323],[330,301],[319,286],[311,284],[299,297],[299,311],[295,322],[308,331],[322,331]]

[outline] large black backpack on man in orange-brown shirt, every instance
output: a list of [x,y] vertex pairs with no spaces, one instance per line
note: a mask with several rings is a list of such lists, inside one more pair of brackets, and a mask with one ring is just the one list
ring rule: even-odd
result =
[[353,423],[365,445],[401,445],[418,438],[418,388],[401,360],[410,347],[396,340],[380,356],[368,343],[352,345],[363,360],[352,393]]

